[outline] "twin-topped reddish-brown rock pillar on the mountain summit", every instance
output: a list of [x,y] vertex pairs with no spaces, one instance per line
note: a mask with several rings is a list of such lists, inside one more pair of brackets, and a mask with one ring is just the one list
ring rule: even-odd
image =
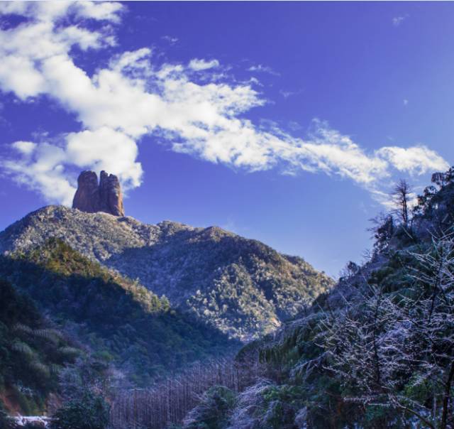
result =
[[98,176],[94,171],[82,171],[77,179],[72,208],[88,213],[106,212],[124,216],[123,195],[116,175],[101,171],[98,184]]

